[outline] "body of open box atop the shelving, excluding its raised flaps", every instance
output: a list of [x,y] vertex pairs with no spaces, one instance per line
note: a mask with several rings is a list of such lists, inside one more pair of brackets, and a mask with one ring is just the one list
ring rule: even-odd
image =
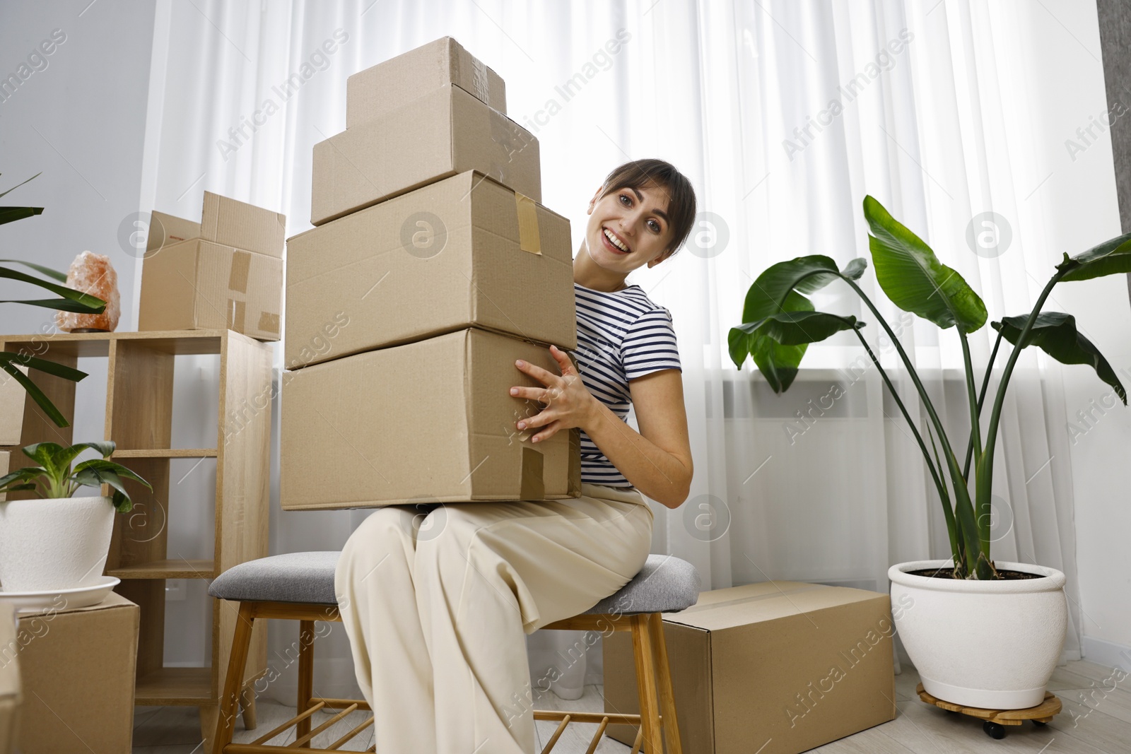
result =
[[235,330],[279,339],[283,260],[193,239],[141,265],[138,330]]

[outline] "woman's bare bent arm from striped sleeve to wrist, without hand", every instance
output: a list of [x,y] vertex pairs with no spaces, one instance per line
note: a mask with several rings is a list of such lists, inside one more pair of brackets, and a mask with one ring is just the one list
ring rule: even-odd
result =
[[640,432],[594,400],[581,428],[637,489],[679,508],[691,488],[691,443],[683,406],[683,375],[662,370],[629,381]]

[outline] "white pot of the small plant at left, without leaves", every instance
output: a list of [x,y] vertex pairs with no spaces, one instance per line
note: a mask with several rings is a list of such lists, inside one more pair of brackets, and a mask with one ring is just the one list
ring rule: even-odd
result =
[[109,497],[0,502],[0,589],[97,583],[110,552],[114,512]]

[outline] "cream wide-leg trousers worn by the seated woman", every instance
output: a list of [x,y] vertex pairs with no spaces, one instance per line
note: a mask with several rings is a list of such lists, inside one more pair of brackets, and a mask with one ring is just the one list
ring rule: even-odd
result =
[[636,489],[391,505],[342,551],[335,587],[378,754],[530,754],[525,634],[614,593],[648,558]]

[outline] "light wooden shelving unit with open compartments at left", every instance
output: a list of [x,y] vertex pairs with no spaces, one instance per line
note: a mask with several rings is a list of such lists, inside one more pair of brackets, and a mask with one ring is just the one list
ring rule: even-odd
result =
[[[191,330],[0,336],[0,349],[26,349],[69,366],[79,357],[106,358],[105,439],[116,443],[114,460],[153,484],[150,493],[127,482],[136,512],[115,518],[105,571],[122,580],[115,591],[141,607],[135,702],[200,707],[201,733],[210,744],[236,609],[213,600],[209,667],[164,667],[164,580],[213,579],[233,565],[267,555],[270,346],[231,330]],[[171,448],[174,359],[200,354],[219,355],[216,447]],[[29,374],[74,423],[75,383],[35,370]],[[19,447],[44,441],[70,444],[71,431],[70,426],[57,427],[33,400],[25,401]],[[19,454],[19,447],[9,450]],[[193,458],[216,459],[214,553],[208,560],[170,560],[167,530],[155,512],[162,511],[167,520],[170,462]],[[12,458],[12,468],[18,468],[20,459],[21,454]],[[27,495],[11,493],[10,497],[20,494]],[[139,527],[138,515],[154,515],[154,526],[147,530],[159,528],[159,532],[145,541],[127,536],[128,527]],[[127,518],[133,520],[127,523]],[[267,670],[265,629],[266,624],[256,626],[247,684]]]

